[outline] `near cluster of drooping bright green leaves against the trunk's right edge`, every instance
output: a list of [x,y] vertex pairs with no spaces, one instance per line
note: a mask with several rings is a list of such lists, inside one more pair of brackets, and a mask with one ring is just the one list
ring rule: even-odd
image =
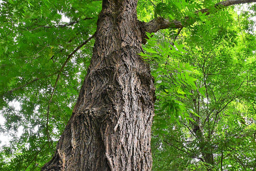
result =
[[[144,53],[139,55],[152,66],[152,75],[156,83],[156,116],[154,117],[154,134],[164,134],[170,123],[180,120],[194,121],[192,109],[182,102],[186,101],[192,90],[197,90],[193,74],[196,72],[189,63],[178,60],[187,53],[184,45],[159,43],[157,35],[147,34]],[[154,37],[152,37],[154,35]],[[198,116],[198,115],[197,115]],[[163,119],[165,118],[165,119]]]

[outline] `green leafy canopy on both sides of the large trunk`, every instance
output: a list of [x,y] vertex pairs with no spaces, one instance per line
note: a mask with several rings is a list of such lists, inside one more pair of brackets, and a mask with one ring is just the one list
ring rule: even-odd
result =
[[[252,2],[138,1],[139,55],[156,87],[153,170],[256,168]],[[0,132],[10,140],[1,169],[40,170],[50,160],[87,74],[101,6],[0,1]]]

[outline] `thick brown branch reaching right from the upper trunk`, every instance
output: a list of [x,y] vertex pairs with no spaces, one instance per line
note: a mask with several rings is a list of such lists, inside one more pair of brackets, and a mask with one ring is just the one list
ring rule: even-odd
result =
[[[256,0],[227,0],[227,1],[222,1],[220,3],[217,3],[214,6],[214,8],[216,8],[216,10],[220,10],[224,7],[228,7],[231,5],[255,3],[255,2],[256,2]],[[212,11],[210,11],[210,9],[208,9],[208,8],[201,9],[199,11],[202,13],[206,13],[205,15],[209,15],[210,12],[212,13]],[[199,11],[196,11],[195,13],[198,14]],[[169,20],[169,19],[164,19],[163,17],[157,17],[157,18],[154,18],[153,20],[151,20],[150,22],[145,23],[143,28],[148,33],[155,33],[158,30],[167,29],[167,28],[174,28],[174,29],[183,28],[183,27],[193,24],[193,22],[188,23],[188,20],[190,20],[188,18],[189,17],[185,17],[185,21],[182,23],[181,21],[178,21],[175,19]]]

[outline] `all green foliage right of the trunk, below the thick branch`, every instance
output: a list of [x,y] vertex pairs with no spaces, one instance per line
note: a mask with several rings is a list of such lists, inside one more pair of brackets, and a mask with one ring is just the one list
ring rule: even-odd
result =
[[[153,170],[220,170],[221,164],[225,170],[255,167],[256,36],[249,29],[248,15],[242,14],[239,21],[231,11],[201,15],[178,36],[164,30],[149,37],[141,55],[151,63],[158,88]],[[247,22],[241,24],[244,19]],[[185,69],[185,64],[193,70]],[[190,84],[187,76],[193,78]],[[161,84],[172,89],[161,89]],[[180,101],[175,106],[186,110],[179,115],[170,112],[177,102],[170,99]],[[194,121],[182,117],[186,114]],[[206,159],[211,156],[212,162]]]

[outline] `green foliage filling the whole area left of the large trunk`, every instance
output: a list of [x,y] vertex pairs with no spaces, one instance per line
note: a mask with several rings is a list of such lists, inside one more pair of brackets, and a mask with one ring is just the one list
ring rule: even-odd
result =
[[[50,105],[51,144],[46,136],[47,105],[57,73],[68,55],[95,33],[101,1],[7,0],[0,9],[0,113],[6,118],[0,131],[13,138],[0,149],[0,167],[24,170],[29,165],[27,170],[37,170],[53,153],[70,118],[94,41],[76,52],[60,74]],[[70,23],[62,20],[65,17]],[[11,110],[13,101],[20,111]],[[18,127],[24,127],[20,137],[13,134]]]

